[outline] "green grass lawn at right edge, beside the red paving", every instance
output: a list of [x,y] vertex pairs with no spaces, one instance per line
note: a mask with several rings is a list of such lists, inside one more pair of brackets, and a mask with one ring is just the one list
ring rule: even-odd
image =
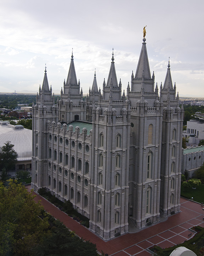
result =
[[201,184],[195,190],[193,190],[192,188],[186,189],[181,186],[181,196],[186,198],[193,197],[193,201],[196,201],[198,203],[204,203],[204,184]]

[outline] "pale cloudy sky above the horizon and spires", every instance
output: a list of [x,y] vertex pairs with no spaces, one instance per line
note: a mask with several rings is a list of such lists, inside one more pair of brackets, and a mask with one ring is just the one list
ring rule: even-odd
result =
[[143,27],[151,74],[164,83],[168,61],[179,96],[204,97],[203,0],[0,0],[0,92],[36,93],[45,64],[59,94],[74,55],[83,93],[107,81],[112,49],[122,90],[135,74]]

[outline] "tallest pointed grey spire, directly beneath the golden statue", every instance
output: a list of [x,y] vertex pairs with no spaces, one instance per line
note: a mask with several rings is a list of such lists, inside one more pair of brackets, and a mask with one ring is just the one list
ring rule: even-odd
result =
[[145,78],[151,78],[145,41],[146,41],[146,38],[143,38],[142,49],[141,49],[140,58],[137,65],[137,70],[135,73],[135,78],[141,78],[143,73]]

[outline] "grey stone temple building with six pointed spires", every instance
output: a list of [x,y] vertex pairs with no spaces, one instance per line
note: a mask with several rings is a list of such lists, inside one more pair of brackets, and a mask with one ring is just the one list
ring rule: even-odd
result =
[[182,159],[183,108],[170,64],[159,97],[143,38],[125,96],[113,55],[102,92],[95,73],[83,100],[72,54],[57,104],[45,70],[32,107],[33,188],[69,199],[106,241],[130,223],[137,231],[180,211]]

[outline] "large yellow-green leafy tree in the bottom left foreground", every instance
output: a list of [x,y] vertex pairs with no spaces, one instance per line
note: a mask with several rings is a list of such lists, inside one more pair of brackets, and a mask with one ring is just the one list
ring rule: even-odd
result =
[[0,256],[33,255],[31,250],[49,235],[47,218],[39,218],[43,207],[21,184],[0,183]]

